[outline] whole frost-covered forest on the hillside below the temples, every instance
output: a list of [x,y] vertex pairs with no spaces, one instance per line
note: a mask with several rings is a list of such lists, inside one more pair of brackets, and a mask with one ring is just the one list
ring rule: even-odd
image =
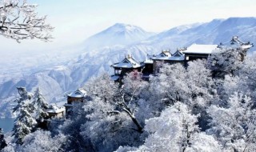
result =
[[18,98],[2,151],[255,151],[256,56],[243,55],[216,50],[187,67],[164,64],[149,82],[138,71],[121,84],[91,78],[86,101],[50,130],[37,125],[46,104],[37,90]]

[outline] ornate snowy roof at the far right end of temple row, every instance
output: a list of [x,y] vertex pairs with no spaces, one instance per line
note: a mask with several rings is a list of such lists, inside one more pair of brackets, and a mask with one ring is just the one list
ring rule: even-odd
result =
[[238,39],[238,36],[234,36],[230,42],[226,42],[226,43],[220,43],[218,45],[218,48],[231,48],[231,49],[235,49],[235,48],[241,48],[242,50],[246,50],[246,49],[250,49],[252,46],[254,46],[254,44],[250,43],[250,42],[242,42]]

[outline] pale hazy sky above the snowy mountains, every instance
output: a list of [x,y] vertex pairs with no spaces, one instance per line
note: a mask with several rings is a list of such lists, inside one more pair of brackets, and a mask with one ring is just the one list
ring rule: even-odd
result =
[[54,42],[30,40],[18,44],[0,37],[0,52],[54,50],[83,42],[116,22],[161,32],[171,27],[214,18],[256,16],[255,0],[30,0],[38,14],[55,27]]

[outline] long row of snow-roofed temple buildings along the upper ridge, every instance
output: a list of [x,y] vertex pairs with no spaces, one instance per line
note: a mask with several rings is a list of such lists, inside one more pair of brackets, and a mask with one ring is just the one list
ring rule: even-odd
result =
[[181,63],[187,66],[187,62],[194,61],[196,59],[208,58],[214,50],[217,49],[242,49],[249,50],[253,44],[250,42],[242,42],[237,36],[234,36],[230,42],[220,43],[219,45],[202,45],[192,44],[189,47],[179,48],[172,54],[170,50],[162,50],[157,55],[147,55],[144,62],[136,61],[132,55],[127,55],[122,62],[114,63],[114,75],[111,79],[118,82],[121,81],[123,76],[127,73],[138,70],[142,72],[142,78],[148,79],[150,74],[156,74],[161,67],[162,63]]

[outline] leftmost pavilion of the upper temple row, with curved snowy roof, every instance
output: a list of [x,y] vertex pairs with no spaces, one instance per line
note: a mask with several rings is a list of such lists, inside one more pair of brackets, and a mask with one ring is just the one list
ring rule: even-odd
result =
[[136,61],[131,55],[127,55],[122,62],[114,63],[112,67],[114,68],[114,75],[111,76],[111,79],[119,81],[125,74],[130,73],[133,70],[141,72],[144,63]]

